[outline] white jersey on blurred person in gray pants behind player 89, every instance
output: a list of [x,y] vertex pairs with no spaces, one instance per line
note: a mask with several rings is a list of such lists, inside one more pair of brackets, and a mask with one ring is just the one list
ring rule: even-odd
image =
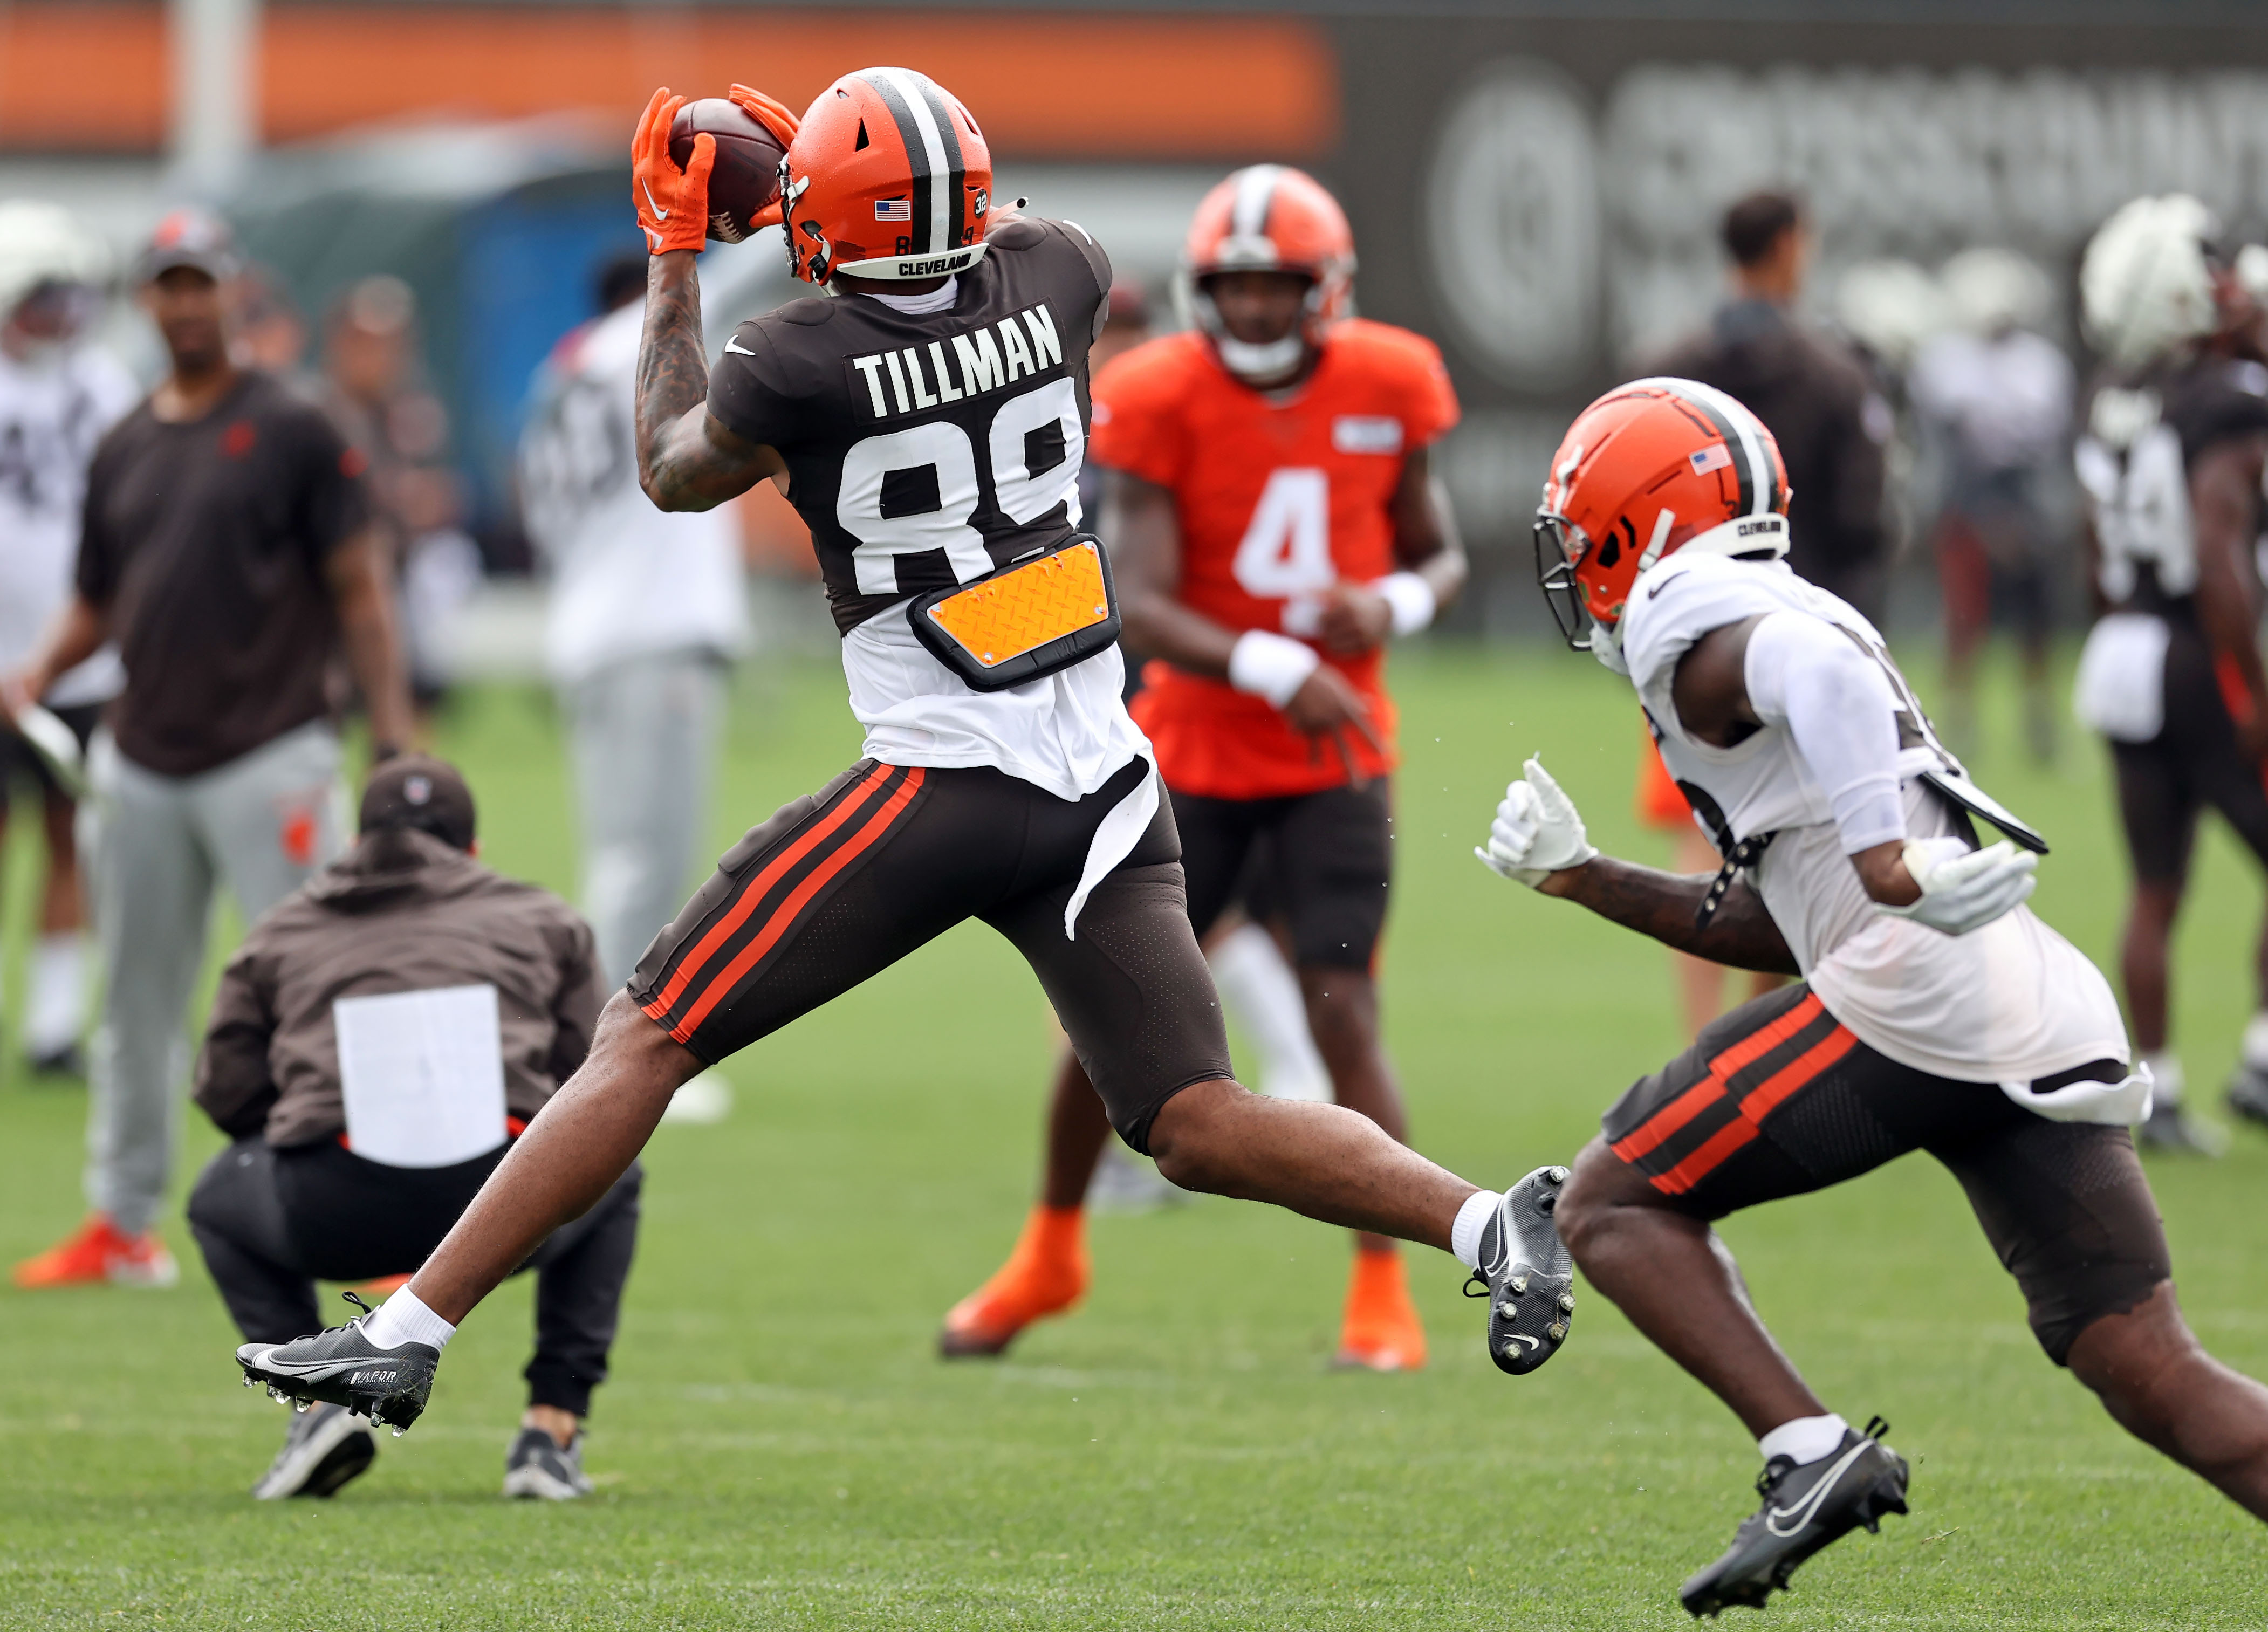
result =
[[544,657],[562,685],[626,657],[748,648],[733,512],[655,510],[637,485],[631,410],[642,326],[633,301],[569,335],[519,442],[528,535],[551,564]]

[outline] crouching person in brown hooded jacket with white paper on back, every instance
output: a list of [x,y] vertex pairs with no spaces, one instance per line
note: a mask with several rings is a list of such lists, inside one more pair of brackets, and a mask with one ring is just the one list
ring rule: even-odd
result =
[[[195,1099],[236,1140],[188,1224],[247,1342],[315,1331],[315,1281],[399,1276],[590,1049],[606,1002],[567,902],[474,859],[472,791],[440,759],[372,775],[356,845],[281,900],[220,977]],[[535,1269],[528,1410],[508,1496],[569,1498],[637,1244],[640,1170],[560,1226]],[[295,1417],[254,1496],[329,1496],[370,1467],[370,1423]]]

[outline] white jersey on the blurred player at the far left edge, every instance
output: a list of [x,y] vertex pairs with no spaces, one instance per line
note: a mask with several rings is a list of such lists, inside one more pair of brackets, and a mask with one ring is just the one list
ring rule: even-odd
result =
[[[0,354],[0,669],[39,646],[70,598],[79,510],[95,442],[141,399],[134,376],[100,347],[36,363]],[[107,703],[125,687],[104,646],[48,691],[48,703]]]

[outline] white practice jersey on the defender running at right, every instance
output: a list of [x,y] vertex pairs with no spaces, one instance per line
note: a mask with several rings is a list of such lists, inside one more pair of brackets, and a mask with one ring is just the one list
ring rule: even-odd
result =
[[1966,936],[1876,911],[1785,725],[1767,723],[1735,748],[1685,734],[1669,700],[1678,657],[1715,628],[1771,612],[1817,617],[1882,666],[1901,703],[1907,836],[1957,830],[1941,798],[1914,780],[1953,759],[1930,734],[1880,632],[1785,562],[1672,555],[1637,580],[1622,619],[1622,653],[1662,762],[1719,845],[1776,834],[1753,882],[1819,1002],[1876,1052],[1955,1081],[2032,1081],[2100,1059],[2125,1061],[2109,981],[2028,907]]

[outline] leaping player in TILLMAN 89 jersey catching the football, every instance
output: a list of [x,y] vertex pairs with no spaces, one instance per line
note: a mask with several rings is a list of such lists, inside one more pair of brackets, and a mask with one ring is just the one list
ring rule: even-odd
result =
[[[785,483],[866,757],[723,855],[408,1287],[349,1326],[238,1351],[247,1383],[415,1421],[456,1321],[606,1192],[678,1083],[966,918],[1032,963],[1111,1127],[1168,1179],[1454,1251],[1490,1294],[1490,1355],[1540,1367],[1574,1308],[1549,1219],[1565,1167],[1476,1190],[1356,1111],[1229,1074],[1175,811],[1120,703],[1109,562],[1080,530],[1102,249],[996,209],[982,129],[919,73],[844,75],[801,122],[733,97],[787,143],[780,224],[814,297],[742,324],[710,372],[694,254],[717,147],[696,138],[680,168],[680,97],[655,93],[633,150],[651,249],[640,476],[665,510]],[[1370,601],[1320,617],[1325,639],[1379,632]],[[1352,682],[1311,723],[1331,721],[1356,739],[1356,775],[1386,768]],[[905,1036],[907,1072],[923,1054]]]

